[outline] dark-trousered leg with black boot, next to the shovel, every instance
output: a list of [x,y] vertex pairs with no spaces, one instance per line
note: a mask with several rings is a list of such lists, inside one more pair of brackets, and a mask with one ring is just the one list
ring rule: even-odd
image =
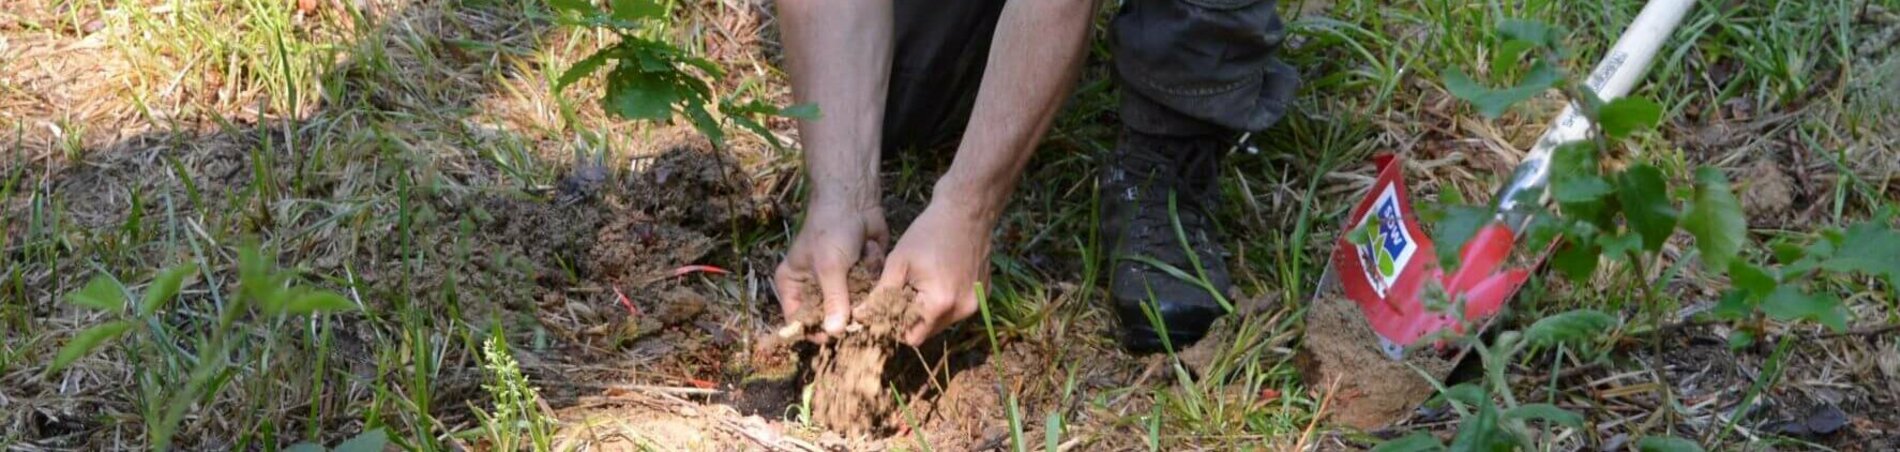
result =
[[1123,139],[1104,161],[1100,198],[1102,237],[1115,258],[1110,296],[1129,349],[1163,348],[1144,306],[1176,349],[1224,313],[1218,298],[1231,279],[1212,224],[1220,156],[1241,131],[1279,122],[1298,87],[1294,70],[1275,59],[1284,27],[1273,8],[1273,0],[1129,0],[1115,15],[1110,44]]

